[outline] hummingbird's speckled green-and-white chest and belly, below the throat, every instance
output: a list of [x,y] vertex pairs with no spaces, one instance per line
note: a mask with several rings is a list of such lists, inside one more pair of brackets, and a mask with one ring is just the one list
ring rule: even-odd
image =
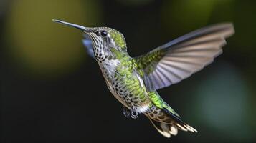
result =
[[128,109],[135,107],[136,112],[145,112],[150,101],[142,79],[132,67],[123,64],[125,62],[118,59],[105,59],[100,63],[108,89]]

